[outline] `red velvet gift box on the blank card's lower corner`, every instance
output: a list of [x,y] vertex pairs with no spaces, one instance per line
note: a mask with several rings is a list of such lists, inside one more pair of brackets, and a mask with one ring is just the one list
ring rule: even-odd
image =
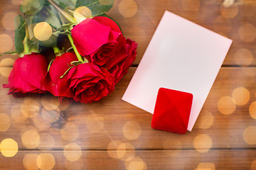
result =
[[160,88],[151,127],[179,134],[186,133],[192,101],[193,94]]

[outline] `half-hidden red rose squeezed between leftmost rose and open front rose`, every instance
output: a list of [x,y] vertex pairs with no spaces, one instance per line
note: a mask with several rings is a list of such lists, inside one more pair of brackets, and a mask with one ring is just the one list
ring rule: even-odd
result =
[[56,57],[50,66],[49,72],[43,79],[43,87],[49,91],[53,96],[59,96],[58,81],[60,77],[70,68],[70,62],[76,61],[78,58],[75,52],[66,52],[60,57]]

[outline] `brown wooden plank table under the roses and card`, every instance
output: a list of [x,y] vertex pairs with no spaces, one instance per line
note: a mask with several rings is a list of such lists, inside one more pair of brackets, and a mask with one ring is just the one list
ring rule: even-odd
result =
[[[108,14],[139,44],[129,73],[92,104],[60,103],[50,95],[13,98],[1,88],[0,142],[14,149],[0,148],[0,169],[256,169],[256,1],[222,2],[117,0]],[[0,52],[14,50],[17,4],[1,0]],[[186,135],[152,129],[151,114],[121,100],[165,10],[233,39]],[[1,57],[1,84],[16,58]],[[18,152],[6,157],[15,143]]]

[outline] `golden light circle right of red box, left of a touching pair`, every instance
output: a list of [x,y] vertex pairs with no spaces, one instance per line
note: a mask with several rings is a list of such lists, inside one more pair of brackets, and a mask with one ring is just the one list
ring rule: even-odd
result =
[[223,115],[230,115],[235,111],[235,100],[230,96],[223,96],[218,101],[218,111]]

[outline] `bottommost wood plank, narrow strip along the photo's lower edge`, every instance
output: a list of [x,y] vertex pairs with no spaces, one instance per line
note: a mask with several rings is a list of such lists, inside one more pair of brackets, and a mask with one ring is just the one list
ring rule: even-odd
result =
[[[116,151],[112,151],[116,152]],[[136,151],[130,158],[131,161],[122,160],[129,151],[120,154],[120,158],[110,157],[107,151],[82,151],[78,161],[70,162],[65,159],[63,151],[19,151],[15,157],[6,158],[0,155],[0,168],[5,169],[35,169],[36,159],[40,166],[40,158],[46,157],[45,167],[53,166],[53,169],[255,169],[255,150],[210,150],[208,153],[198,153],[193,150],[176,151]],[[43,153],[43,154],[42,154]],[[49,154],[51,156],[49,156]],[[77,157],[73,153],[73,157]],[[79,156],[78,156],[79,157]],[[29,160],[27,158],[30,158]],[[48,158],[48,159],[47,159]],[[54,159],[54,162],[53,162]],[[69,158],[70,159],[70,158]],[[24,160],[24,161],[23,161]]]

